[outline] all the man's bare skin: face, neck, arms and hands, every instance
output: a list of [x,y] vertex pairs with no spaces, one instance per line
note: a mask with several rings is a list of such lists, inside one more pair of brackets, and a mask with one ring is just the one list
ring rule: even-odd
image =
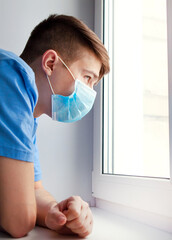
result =
[[[99,78],[101,63],[90,50],[82,48],[81,52],[68,67],[76,78],[93,88]],[[54,92],[64,96],[74,91],[75,79],[51,49],[30,66],[35,72],[39,92],[34,117],[43,113],[51,117],[52,92],[46,75]],[[36,223],[61,234],[86,237],[92,231],[93,217],[88,204],[79,196],[58,203],[41,181],[34,182],[33,163],[0,157],[1,229],[19,238],[32,230]]]

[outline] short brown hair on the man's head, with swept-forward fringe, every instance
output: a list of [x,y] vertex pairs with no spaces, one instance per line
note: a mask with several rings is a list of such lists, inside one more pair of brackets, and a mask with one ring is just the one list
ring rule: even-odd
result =
[[100,39],[82,21],[67,15],[50,15],[39,23],[32,31],[21,58],[29,64],[48,49],[53,49],[69,63],[76,60],[79,46],[89,48],[101,61],[99,79],[109,72],[109,57]]

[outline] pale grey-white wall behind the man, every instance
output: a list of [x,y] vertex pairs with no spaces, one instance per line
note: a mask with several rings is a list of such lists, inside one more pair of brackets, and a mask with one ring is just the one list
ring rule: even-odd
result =
[[[0,0],[0,48],[20,54],[32,29],[51,13],[73,15],[94,26],[94,0]],[[93,114],[73,124],[46,116],[37,132],[45,188],[57,200],[91,200]]]

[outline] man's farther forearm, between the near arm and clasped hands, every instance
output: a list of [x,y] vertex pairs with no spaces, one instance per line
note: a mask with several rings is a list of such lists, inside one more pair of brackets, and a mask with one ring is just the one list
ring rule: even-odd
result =
[[45,218],[49,209],[56,205],[56,200],[42,186],[35,189],[37,204],[37,225],[46,227]]

